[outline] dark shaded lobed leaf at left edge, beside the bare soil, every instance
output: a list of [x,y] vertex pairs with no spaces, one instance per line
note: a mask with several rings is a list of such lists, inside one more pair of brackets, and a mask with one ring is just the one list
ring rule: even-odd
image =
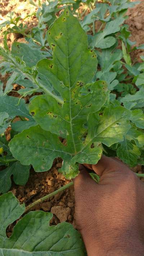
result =
[[30,166],[21,165],[21,163],[17,161],[0,171],[0,193],[8,192],[12,184],[10,179],[12,175],[15,184],[25,185],[28,181],[29,169]]

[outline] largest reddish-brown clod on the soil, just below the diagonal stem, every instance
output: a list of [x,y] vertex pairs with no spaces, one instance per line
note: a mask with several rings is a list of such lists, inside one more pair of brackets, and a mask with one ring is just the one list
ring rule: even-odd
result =
[[55,214],[60,222],[63,222],[67,220],[71,213],[71,209],[69,207],[53,206],[51,207],[51,213]]

